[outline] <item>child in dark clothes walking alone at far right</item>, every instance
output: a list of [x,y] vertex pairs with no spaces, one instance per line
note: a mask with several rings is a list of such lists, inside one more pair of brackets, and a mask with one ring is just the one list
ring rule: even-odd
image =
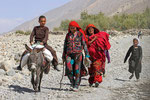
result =
[[124,63],[129,58],[129,72],[132,73],[132,75],[129,77],[129,79],[132,79],[135,73],[135,77],[137,81],[140,78],[140,73],[142,69],[142,47],[138,45],[139,40],[137,38],[133,39],[133,45],[129,48],[126,57],[124,59]]

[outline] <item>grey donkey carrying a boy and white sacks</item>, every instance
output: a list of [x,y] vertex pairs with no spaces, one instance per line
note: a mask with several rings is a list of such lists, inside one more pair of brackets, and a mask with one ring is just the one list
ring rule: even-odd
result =
[[41,91],[41,80],[43,77],[43,72],[48,74],[50,71],[50,63],[46,60],[43,55],[43,49],[31,49],[25,45],[26,50],[30,53],[27,61],[27,66],[29,71],[31,71],[31,83],[35,92]]

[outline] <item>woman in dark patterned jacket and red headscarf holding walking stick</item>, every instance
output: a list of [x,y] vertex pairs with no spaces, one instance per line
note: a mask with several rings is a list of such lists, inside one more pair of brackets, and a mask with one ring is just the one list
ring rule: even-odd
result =
[[83,34],[84,31],[82,31],[80,26],[75,21],[71,21],[64,42],[62,58],[66,64],[66,75],[71,83],[70,89],[73,91],[78,91],[81,81],[83,49],[85,52],[85,61],[88,61],[89,58],[89,52]]

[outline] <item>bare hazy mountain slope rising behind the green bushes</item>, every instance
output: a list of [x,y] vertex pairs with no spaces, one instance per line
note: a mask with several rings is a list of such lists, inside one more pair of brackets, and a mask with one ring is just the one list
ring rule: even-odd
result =
[[[79,19],[83,11],[89,14],[103,12],[106,16],[113,16],[122,13],[140,13],[147,7],[150,8],[150,0],[72,0],[43,15],[47,17],[47,26],[52,30],[58,27],[62,20]],[[32,30],[36,25],[38,25],[38,17],[19,25],[13,31]]]

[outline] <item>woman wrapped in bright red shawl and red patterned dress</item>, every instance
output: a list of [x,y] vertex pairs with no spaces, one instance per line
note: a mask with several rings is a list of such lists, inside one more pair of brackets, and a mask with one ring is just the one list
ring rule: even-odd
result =
[[105,69],[105,50],[110,49],[109,35],[100,32],[93,24],[89,24],[85,30],[88,39],[88,51],[92,62],[89,68],[89,84],[98,87],[102,82],[102,74]]

